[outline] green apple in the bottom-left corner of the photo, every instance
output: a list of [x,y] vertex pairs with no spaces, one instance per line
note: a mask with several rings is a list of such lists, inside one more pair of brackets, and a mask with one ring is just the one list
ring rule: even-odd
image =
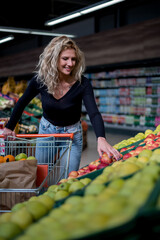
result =
[[21,228],[13,222],[4,222],[0,224],[0,237],[3,239],[13,239],[21,233]]

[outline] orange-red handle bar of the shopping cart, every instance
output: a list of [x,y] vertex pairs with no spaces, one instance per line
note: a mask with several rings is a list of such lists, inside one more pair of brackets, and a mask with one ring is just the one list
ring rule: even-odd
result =
[[[16,137],[19,138],[37,138],[37,137],[62,137],[70,138],[73,140],[74,133],[55,133],[55,134],[16,134]],[[0,135],[0,138],[4,138],[4,135]]]

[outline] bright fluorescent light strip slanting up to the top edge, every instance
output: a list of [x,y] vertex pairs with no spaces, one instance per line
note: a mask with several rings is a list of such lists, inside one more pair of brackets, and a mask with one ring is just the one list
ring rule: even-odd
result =
[[70,19],[73,19],[73,18],[76,18],[76,17],[80,17],[84,14],[88,14],[90,12],[94,12],[94,11],[97,11],[99,9],[102,9],[102,8],[105,8],[105,7],[108,7],[108,6],[114,5],[114,4],[119,3],[119,2],[123,2],[123,1],[125,1],[125,0],[101,1],[101,2],[99,2],[99,4],[92,4],[87,8],[79,9],[76,12],[71,12],[70,14],[64,15],[62,17],[51,19],[51,20],[45,22],[45,25],[46,26],[53,26],[53,25],[56,25],[58,23],[65,22],[67,20],[70,20]]

